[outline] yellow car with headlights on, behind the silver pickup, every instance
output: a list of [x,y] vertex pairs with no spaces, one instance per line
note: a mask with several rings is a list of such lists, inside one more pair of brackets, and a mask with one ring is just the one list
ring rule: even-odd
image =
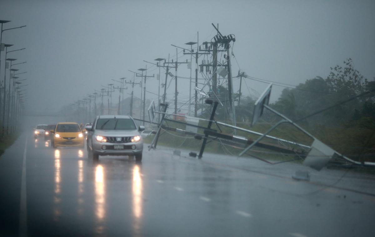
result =
[[52,147],[84,147],[83,133],[78,123],[57,123],[51,130]]

